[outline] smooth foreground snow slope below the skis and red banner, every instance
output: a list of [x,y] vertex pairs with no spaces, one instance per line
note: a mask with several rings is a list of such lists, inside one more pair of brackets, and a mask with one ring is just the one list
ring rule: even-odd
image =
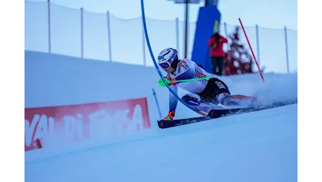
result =
[[297,104],[25,163],[25,181],[297,181]]

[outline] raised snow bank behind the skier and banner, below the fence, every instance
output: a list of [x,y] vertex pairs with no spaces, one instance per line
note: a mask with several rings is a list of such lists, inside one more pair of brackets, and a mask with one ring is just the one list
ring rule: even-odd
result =
[[[24,104],[27,108],[147,97],[153,122],[160,119],[152,92],[154,88],[162,116],[167,114],[169,92],[166,87],[158,85],[160,77],[154,67],[43,52],[23,53]],[[264,76],[266,84],[262,83],[258,73],[221,79],[233,94],[254,94],[266,87],[262,94],[269,101],[297,98],[297,73],[269,73]],[[180,94],[183,93],[181,90]],[[197,114],[179,103],[176,118],[193,116]]]

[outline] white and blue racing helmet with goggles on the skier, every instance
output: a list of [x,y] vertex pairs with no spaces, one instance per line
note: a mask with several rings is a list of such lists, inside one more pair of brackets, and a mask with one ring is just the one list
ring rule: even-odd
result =
[[158,64],[164,70],[169,69],[170,66],[175,68],[178,61],[178,52],[174,48],[166,48],[158,56]]

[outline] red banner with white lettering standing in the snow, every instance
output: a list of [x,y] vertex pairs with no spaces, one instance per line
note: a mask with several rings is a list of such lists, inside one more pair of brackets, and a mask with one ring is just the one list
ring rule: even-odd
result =
[[151,128],[146,98],[25,109],[23,151]]

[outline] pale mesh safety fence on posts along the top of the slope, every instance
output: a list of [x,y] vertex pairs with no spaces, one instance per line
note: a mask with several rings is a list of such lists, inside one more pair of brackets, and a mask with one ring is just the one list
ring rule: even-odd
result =
[[[24,2],[23,49],[50,52],[87,59],[152,66],[141,18],[119,19],[109,13],[91,13],[47,2]],[[154,56],[173,47],[184,55],[184,22],[147,18],[148,36]],[[228,37],[239,25],[221,25],[221,34]],[[267,29],[255,25],[245,27],[260,66],[265,72],[292,72],[298,67],[297,30]],[[248,47],[240,32],[240,41]],[[191,57],[195,23],[188,27],[188,57]],[[228,45],[225,46],[228,50]],[[249,49],[248,49],[249,50]],[[181,57],[182,58],[182,57]],[[255,69],[255,68],[254,68]]]

